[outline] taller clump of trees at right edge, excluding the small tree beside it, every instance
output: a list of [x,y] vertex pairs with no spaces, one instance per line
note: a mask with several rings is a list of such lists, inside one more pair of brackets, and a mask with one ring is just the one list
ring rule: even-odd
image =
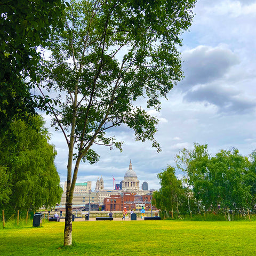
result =
[[[187,151],[186,157],[184,152]],[[186,163],[189,186],[205,210],[254,208],[255,154],[251,159],[238,149],[220,150],[210,156],[207,145],[195,143],[193,150],[182,149],[176,156],[177,167]],[[181,169],[184,170],[184,169]]]

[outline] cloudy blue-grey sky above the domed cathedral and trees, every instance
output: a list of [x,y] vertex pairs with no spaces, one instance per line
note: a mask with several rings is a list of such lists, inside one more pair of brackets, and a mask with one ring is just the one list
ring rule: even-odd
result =
[[[162,101],[160,113],[150,110],[159,123],[156,139],[161,153],[150,142],[137,142],[124,127],[116,133],[124,141],[123,152],[100,146],[100,161],[81,163],[77,182],[103,178],[105,189],[123,180],[130,160],[140,187],[159,189],[157,174],[175,167],[179,150],[207,144],[209,153],[235,147],[244,156],[256,149],[256,0],[198,0],[189,31],[182,34],[179,49],[185,78]],[[49,124],[49,117],[45,117]],[[50,125],[49,125],[50,126]],[[50,143],[58,152],[55,164],[61,183],[67,178],[67,145],[53,128]],[[176,175],[181,177],[177,170]]]

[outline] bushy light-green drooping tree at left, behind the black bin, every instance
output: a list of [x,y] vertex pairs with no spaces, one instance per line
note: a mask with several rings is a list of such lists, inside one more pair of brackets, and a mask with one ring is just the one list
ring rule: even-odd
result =
[[[54,165],[57,154],[41,116],[31,125],[15,121],[9,134],[0,138],[0,206],[2,209],[36,211],[60,201],[62,188]],[[3,175],[2,175],[3,174]]]

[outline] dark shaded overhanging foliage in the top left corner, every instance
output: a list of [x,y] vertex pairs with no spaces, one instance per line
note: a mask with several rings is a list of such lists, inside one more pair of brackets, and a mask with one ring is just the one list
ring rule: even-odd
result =
[[[2,0],[0,2],[0,131],[13,118],[35,114],[36,101],[30,93],[51,26],[62,27],[61,0]],[[26,82],[25,82],[26,79]]]

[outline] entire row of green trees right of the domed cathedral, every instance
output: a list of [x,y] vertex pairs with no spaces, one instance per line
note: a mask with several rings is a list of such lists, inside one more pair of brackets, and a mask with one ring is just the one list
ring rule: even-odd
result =
[[167,166],[157,175],[161,188],[154,192],[153,204],[165,217],[190,211],[255,212],[255,159],[255,151],[247,157],[235,148],[221,149],[211,156],[206,144],[195,143],[193,150],[183,148],[175,156],[176,171],[182,171],[183,178],[178,180],[174,167]]

